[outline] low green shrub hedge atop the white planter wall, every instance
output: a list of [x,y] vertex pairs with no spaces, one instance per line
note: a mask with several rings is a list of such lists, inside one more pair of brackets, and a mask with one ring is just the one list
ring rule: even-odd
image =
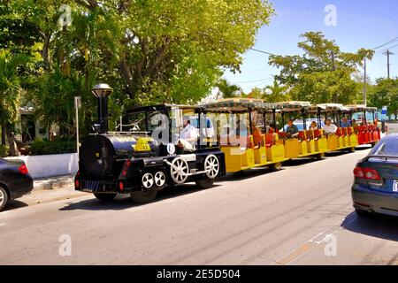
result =
[[76,152],[76,142],[46,142],[34,141],[30,145],[30,154],[33,156],[42,156],[50,154],[63,154]]

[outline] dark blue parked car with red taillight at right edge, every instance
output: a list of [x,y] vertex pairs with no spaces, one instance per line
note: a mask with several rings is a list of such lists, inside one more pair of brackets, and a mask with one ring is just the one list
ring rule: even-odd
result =
[[398,216],[398,134],[390,134],[354,169],[352,200],[359,216]]

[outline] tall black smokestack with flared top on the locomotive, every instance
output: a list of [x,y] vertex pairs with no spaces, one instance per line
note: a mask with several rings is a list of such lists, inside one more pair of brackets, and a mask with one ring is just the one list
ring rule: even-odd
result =
[[108,132],[108,96],[111,96],[113,89],[101,83],[91,89],[91,93],[96,96],[98,100],[98,134],[105,134]]

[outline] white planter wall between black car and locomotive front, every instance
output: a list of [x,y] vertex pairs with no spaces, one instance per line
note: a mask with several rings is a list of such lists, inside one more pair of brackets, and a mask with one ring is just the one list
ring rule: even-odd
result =
[[27,164],[27,170],[34,179],[74,174],[78,171],[77,153],[8,157],[5,159],[21,159]]

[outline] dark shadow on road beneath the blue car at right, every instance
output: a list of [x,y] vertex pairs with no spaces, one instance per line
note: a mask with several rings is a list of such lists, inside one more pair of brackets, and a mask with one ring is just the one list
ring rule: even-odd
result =
[[341,223],[341,226],[354,233],[398,241],[398,218],[386,215],[370,215],[369,217],[359,218],[356,212],[352,212]]

